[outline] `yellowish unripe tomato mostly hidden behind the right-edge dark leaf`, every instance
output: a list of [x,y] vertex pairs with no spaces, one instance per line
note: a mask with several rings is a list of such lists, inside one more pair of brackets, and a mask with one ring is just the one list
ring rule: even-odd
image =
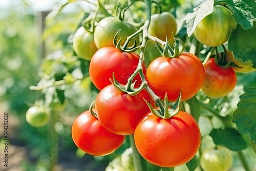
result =
[[236,58],[234,58],[233,52],[229,52],[227,50],[226,51],[226,61],[228,62],[229,60],[231,60],[231,62],[233,62],[233,63],[236,63],[237,66],[242,67],[242,68],[238,68],[238,67],[231,66],[231,68],[236,72],[249,73],[249,72],[256,71],[256,68],[245,66],[243,63],[240,63]]

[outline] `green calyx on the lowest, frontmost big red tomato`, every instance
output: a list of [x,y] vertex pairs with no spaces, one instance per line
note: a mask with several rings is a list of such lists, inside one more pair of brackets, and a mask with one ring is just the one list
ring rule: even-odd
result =
[[146,101],[145,99],[144,99],[144,101],[148,105],[148,108],[150,108],[150,111],[152,112],[152,114],[154,114],[155,116],[160,117],[162,119],[169,119],[169,118],[177,115],[181,110],[181,91],[180,91],[180,95],[179,95],[178,99],[176,100],[176,102],[174,103],[172,108],[169,108],[167,93],[165,94],[164,110],[163,111],[161,109],[154,109],[153,106],[148,101]]

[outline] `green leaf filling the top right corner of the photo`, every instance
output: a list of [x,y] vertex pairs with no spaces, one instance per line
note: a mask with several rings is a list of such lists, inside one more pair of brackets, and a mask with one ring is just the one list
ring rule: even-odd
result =
[[241,24],[244,30],[253,26],[253,21],[256,20],[256,8],[253,8],[256,5],[255,0],[227,0],[224,3],[232,11],[234,20]]

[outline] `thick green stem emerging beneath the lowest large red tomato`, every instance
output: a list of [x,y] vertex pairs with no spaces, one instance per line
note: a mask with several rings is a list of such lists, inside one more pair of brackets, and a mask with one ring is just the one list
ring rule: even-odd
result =
[[131,147],[133,148],[133,164],[135,167],[136,171],[144,171],[146,170],[146,161],[145,159],[140,155],[140,153],[138,152],[138,149],[135,146],[135,142],[134,142],[134,135],[129,135],[129,139],[130,139],[130,144]]

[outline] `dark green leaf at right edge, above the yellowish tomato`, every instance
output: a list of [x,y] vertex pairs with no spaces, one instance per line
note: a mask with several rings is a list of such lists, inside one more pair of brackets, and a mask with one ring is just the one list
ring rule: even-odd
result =
[[238,24],[228,38],[228,50],[233,51],[234,58],[241,63],[252,63],[252,67],[256,68],[256,24],[247,30]]

